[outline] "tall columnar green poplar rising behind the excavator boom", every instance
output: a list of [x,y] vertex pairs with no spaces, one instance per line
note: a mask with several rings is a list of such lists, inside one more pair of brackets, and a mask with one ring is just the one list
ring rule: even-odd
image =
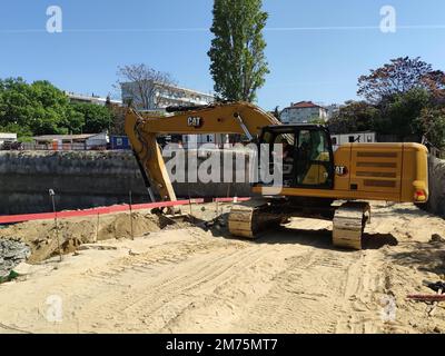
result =
[[269,72],[264,55],[263,29],[267,12],[261,0],[215,0],[208,52],[219,99],[254,101]]

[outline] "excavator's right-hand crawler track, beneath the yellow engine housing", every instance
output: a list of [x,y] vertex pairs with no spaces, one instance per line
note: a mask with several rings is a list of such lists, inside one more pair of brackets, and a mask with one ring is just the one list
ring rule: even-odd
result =
[[368,202],[345,202],[336,209],[333,226],[333,244],[336,247],[362,249],[362,235],[370,221]]

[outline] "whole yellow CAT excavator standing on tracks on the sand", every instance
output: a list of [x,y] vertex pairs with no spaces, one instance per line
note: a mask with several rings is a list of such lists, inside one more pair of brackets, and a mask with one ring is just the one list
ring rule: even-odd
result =
[[[335,151],[322,125],[283,125],[247,102],[167,108],[169,116],[129,109],[126,132],[152,200],[176,200],[157,137],[235,134],[257,145],[283,145],[281,186],[253,184],[254,198],[234,205],[234,236],[255,238],[290,217],[332,220],[335,246],[362,249],[369,200],[423,204],[428,199],[427,149],[419,144],[345,144]],[[270,168],[269,168],[270,169]]]

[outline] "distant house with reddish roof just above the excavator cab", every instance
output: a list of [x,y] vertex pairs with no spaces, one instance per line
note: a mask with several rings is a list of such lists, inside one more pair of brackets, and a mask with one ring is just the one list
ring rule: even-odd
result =
[[327,120],[328,110],[312,101],[290,103],[283,109],[280,120],[283,123],[309,123],[314,120]]

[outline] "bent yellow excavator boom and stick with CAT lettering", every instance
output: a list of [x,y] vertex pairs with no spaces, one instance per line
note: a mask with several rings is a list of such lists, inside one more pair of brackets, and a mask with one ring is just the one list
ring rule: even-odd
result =
[[274,116],[247,102],[214,103],[194,108],[170,108],[172,116],[154,117],[129,109],[125,129],[142,172],[152,201],[175,201],[176,195],[168,176],[158,135],[239,134],[249,140],[263,127],[280,125]]

